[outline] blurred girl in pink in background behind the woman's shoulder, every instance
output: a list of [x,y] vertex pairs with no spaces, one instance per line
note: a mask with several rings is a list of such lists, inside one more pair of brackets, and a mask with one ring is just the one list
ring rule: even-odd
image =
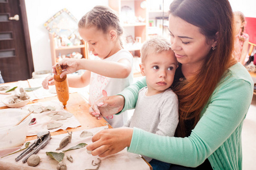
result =
[[245,57],[247,55],[248,44],[249,44],[249,35],[244,33],[245,30],[245,16],[242,12],[236,11],[234,13],[234,22],[236,25],[235,35],[236,39],[234,41],[234,53],[233,56],[237,59],[238,62],[245,65]]

